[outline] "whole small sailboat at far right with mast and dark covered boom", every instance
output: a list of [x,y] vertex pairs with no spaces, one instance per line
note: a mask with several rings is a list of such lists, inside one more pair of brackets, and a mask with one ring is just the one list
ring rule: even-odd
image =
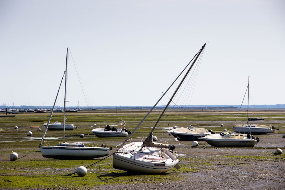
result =
[[[248,95],[247,95],[247,125],[236,124],[236,122],[237,122],[237,119],[236,119],[235,124],[233,126],[233,130],[237,133],[245,133],[245,134],[273,133],[274,129],[275,129],[274,126],[249,124],[250,121],[261,121],[261,120],[264,121],[265,119],[263,119],[263,118],[249,118],[249,83],[248,83],[246,92],[248,93]],[[240,109],[241,109],[241,107],[240,107]],[[239,113],[238,113],[238,115],[239,115]],[[279,129],[277,129],[277,130],[279,130]]]

